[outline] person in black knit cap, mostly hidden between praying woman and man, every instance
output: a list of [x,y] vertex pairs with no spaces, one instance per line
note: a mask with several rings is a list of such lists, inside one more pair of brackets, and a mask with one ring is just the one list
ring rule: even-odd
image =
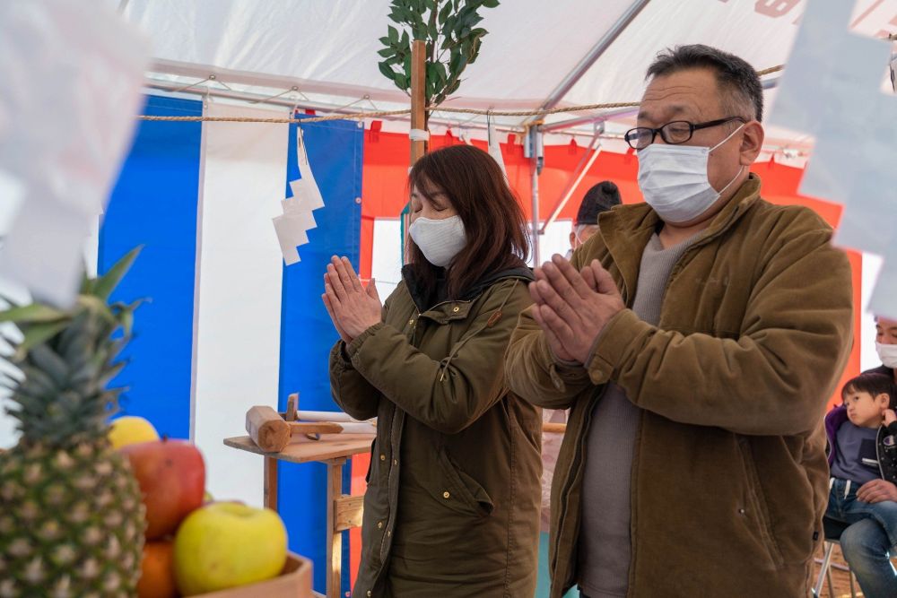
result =
[[[620,205],[620,190],[609,180],[591,186],[579,204],[573,230],[570,230],[570,250],[583,245],[598,230],[598,216],[607,212],[614,205]],[[567,411],[564,409],[542,410],[542,420],[547,423],[566,423]],[[561,450],[562,434],[546,433],[542,436],[542,519],[539,526],[539,576],[536,585],[536,598],[547,598],[551,589],[551,574],[548,568],[548,530],[551,527],[551,493],[554,465]],[[577,598],[579,591],[570,588],[565,598]]]

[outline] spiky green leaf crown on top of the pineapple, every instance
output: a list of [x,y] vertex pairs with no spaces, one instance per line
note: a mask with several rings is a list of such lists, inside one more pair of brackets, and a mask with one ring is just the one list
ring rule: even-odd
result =
[[[17,325],[22,341],[0,332],[14,348],[21,371],[0,375],[11,392],[7,409],[18,420],[20,443],[68,446],[103,438],[117,409],[121,388],[106,386],[126,367],[118,355],[134,332],[134,312],[143,300],[109,304],[140,247],[97,279],[85,277],[75,305],[65,311],[41,304],[4,307],[0,323]],[[14,374],[14,376],[13,376]]]

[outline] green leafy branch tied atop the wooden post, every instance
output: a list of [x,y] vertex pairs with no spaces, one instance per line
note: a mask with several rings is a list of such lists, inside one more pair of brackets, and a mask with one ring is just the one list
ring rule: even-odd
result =
[[393,0],[388,26],[380,38],[384,48],[378,54],[380,73],[411,93],[411,41],[426,42],[426,99],[438,106],[461,85],[461,74],[480,53],[483,36],[477,25],[483,21],[481,8],[495,8],[499,0]]

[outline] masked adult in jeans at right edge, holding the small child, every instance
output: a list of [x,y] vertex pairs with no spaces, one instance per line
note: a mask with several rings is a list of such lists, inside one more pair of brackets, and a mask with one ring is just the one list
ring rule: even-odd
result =
[[[897,320],[875,316],[875,350],[882,365],[863,372],[864,375],[883,374],[897,383]],[[897,485],[886,479],[867,481],[857,490],[857,499],[871,504],[897,501]],[[886,523],[891,529],[897,529],[897,520]],[[897,596],[897,570],[889,558],[890,554],[897,556],[897,548],[881,524],[865,519],[858,521],[840,534],[839,542],[841,553],[857,576],[864,595]]]

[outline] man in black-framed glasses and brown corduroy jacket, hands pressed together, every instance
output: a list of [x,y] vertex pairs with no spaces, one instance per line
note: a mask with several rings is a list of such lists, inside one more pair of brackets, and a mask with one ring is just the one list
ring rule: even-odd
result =
[[626,134],[646,204],[536,269],[505,368],[570,408],[553,598],[809,593],[853,294],[831,228],[761,198],[762,101],[742,58],[659,54]]

